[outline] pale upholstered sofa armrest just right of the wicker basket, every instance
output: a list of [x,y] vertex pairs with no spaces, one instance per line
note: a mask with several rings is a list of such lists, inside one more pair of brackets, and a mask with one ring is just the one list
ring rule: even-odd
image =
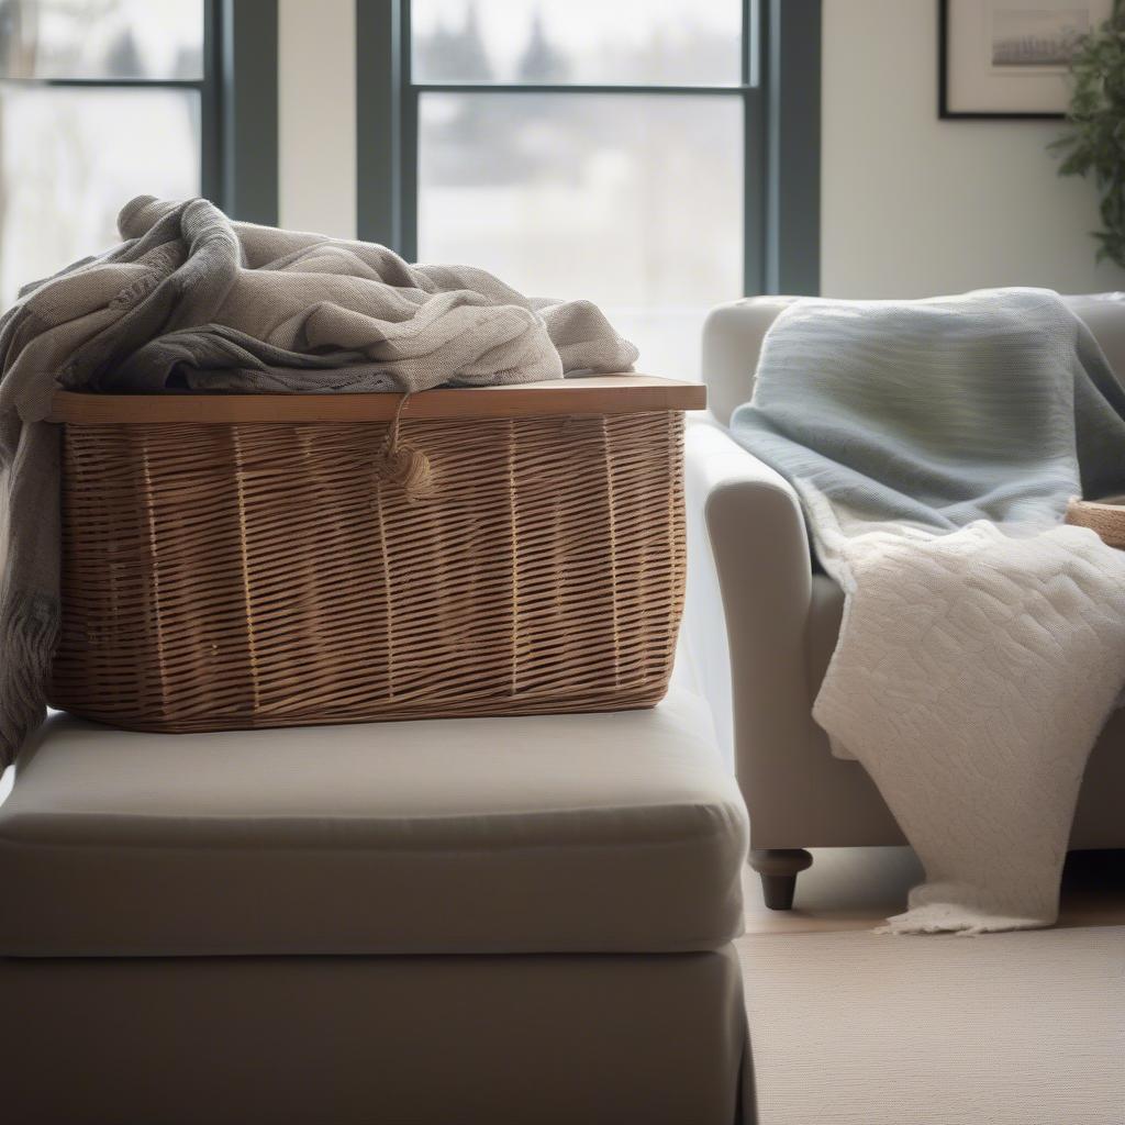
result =
[[713,423],[691,425],[686,440],[685,639],[753,821],[763,763],[810,738],[809,539],[782,476]]

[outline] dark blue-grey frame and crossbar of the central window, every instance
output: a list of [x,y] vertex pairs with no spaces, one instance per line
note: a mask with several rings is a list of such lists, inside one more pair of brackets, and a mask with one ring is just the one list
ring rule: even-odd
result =
[[742,105],[742,295],[820,282],[821,0],[740,0],[741,76],[728,86],[415,82],[410,0],[356,0],[360,238],[417,255],[423,93],[737,97]]

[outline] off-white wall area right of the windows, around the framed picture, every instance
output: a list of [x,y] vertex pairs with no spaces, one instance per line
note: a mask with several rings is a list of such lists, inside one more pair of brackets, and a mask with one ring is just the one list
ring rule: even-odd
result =
[[935,0],[824,0],[821,289],[1125,288],[1096,266],[1094,188],[1061,180],[1052,122],[937,118]]

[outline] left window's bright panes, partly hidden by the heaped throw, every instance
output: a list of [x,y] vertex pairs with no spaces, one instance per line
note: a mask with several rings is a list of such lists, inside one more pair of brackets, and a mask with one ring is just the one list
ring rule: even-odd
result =
[[0,296],[217,194],[212,0],[0,0]]

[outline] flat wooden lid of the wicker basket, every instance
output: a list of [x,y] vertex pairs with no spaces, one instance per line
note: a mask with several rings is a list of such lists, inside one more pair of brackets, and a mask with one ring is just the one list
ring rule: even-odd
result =
[[[232,422],[389,422],[400,395],[96,395],[55,393],[50,422],[82,425]],[[549,414],[701,411],[702,382],[600,375],[508,387],[442,387],[411,395],[404,418],[507,418]]]

